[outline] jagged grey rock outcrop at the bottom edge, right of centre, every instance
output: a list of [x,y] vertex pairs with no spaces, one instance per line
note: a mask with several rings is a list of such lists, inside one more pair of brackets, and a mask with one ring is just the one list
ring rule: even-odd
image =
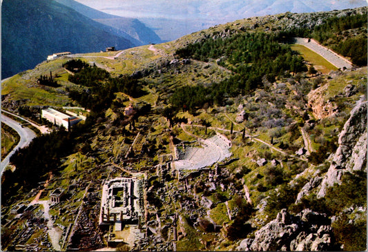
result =
[[282,209],[275,220],[255,232],[254,239],[240,242],[238,251],[333,250],[331,220],[325,213],[304,209],[290,215]]

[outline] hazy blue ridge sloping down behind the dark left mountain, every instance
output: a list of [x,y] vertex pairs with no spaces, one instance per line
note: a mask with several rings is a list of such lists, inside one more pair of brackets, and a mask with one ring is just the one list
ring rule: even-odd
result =
[[[162,40],[155,34],[151,28],[148,28],[138,19],[119,17],[105,12],[100,12],[88,6],[84,6],[74,0],[56,0],[57,2],[68,6],[77,12],[84,14],[86,17],[93,19],[106,26],[117,29],[117,35],[122,37],[133,37],[138,43],[143,45],[147,43],[162,43]],[[129,36],[129,37],[127,37]]]

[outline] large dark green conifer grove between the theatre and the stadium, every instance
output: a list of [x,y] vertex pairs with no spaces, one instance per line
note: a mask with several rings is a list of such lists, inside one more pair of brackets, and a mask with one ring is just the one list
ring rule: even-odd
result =
[[[205,39],[175,52],[177,57],[209,61],[228,68],[235,75],[220,83],[202,86],[184,86],[175,90],[171,98],[174,108],[191,110],[210,104],[224,105],[224,97],[235,97],[262,86],[262,78],[288,77],[290,72],[306,71],[302,57],[293,54],[288,45],[280,45],[275,37],[263,33],[244,33],[226,39]],[[286,75],[285,75],[286,72]],[[193,97],[193,94],[195,96]]]

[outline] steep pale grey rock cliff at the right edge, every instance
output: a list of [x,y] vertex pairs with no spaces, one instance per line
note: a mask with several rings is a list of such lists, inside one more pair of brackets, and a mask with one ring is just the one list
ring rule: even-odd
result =
[[358,101],[351,110],[350,118],[340,133],[338,145],[318,197],[325,196],[328,186],[340,184],[345,172],[367,170],[367,101]]

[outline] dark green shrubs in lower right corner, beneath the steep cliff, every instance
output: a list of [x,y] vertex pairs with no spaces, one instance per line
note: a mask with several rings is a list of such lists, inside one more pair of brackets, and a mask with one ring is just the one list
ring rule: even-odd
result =
[[364,250],[367,246],[367,223],[365,213],[362,216],[349,214],[348,208],[367,206],[367,173],[356,171],[345,173],[340,185],[329,187],[325,197],[320,199],[316,195],[302,198],[299,204],[291,204],[290,209],[298,213],[302,209],[312,209],[320,213],[338,215],[332,228],[336,239],[344,244],[345,251]]

